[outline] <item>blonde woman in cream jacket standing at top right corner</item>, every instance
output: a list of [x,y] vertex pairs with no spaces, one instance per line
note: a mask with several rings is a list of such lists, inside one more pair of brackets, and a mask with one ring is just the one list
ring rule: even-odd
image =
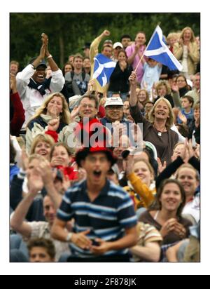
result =
[[180,60],[183,65],[181,74],[186,78],[195,74],[200,53],[195,41],[195,34],[190,27],[185,27],[182,30],[179,42],[174,44],[173,52],[177,60]]

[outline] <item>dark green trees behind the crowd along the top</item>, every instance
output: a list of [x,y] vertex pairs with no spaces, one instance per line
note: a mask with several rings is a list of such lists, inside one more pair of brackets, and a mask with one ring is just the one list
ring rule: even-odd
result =
[[138,31],[151,38],[158,22],[163,33],[177,32],[190,26],[200,35],[200,13],[10,13],[10,60],[20,62],[22,69],[38,55],[41,33],[49,36],[49,50],[62,67],[68,56],[82,53],[85,42],[91,42],[104,29],[111,32],[110,39],[130,34],[134,39]]

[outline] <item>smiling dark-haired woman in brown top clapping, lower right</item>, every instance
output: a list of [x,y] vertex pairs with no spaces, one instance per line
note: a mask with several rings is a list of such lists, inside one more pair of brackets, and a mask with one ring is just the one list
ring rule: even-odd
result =
[[162,182],[156,195],[155,207],[139,218],[140,222],[153,225],[163,238],[163,245],[173,244],[189,236],[192,223],[181,216],[186,194],[177,180]]

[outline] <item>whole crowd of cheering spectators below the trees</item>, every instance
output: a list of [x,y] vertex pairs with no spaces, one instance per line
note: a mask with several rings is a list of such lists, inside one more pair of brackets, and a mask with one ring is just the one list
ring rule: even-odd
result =
[[169,33],[171,71],[147,38],[104,30],[59,67],[43,33],[10,62],[10,262],[200,262],[200,47]]

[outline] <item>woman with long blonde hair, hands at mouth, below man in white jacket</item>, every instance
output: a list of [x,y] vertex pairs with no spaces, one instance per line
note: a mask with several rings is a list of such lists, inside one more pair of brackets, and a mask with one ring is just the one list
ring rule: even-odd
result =
[[27,125],[27,152],[30,152],[34,137],[48,130],[52,132],[50,133],[52,137],[58,134],[59,142],[66,142],[65,133],[69,123],[71,123],[71,115],[64,95],[62,93],[50,94]]

